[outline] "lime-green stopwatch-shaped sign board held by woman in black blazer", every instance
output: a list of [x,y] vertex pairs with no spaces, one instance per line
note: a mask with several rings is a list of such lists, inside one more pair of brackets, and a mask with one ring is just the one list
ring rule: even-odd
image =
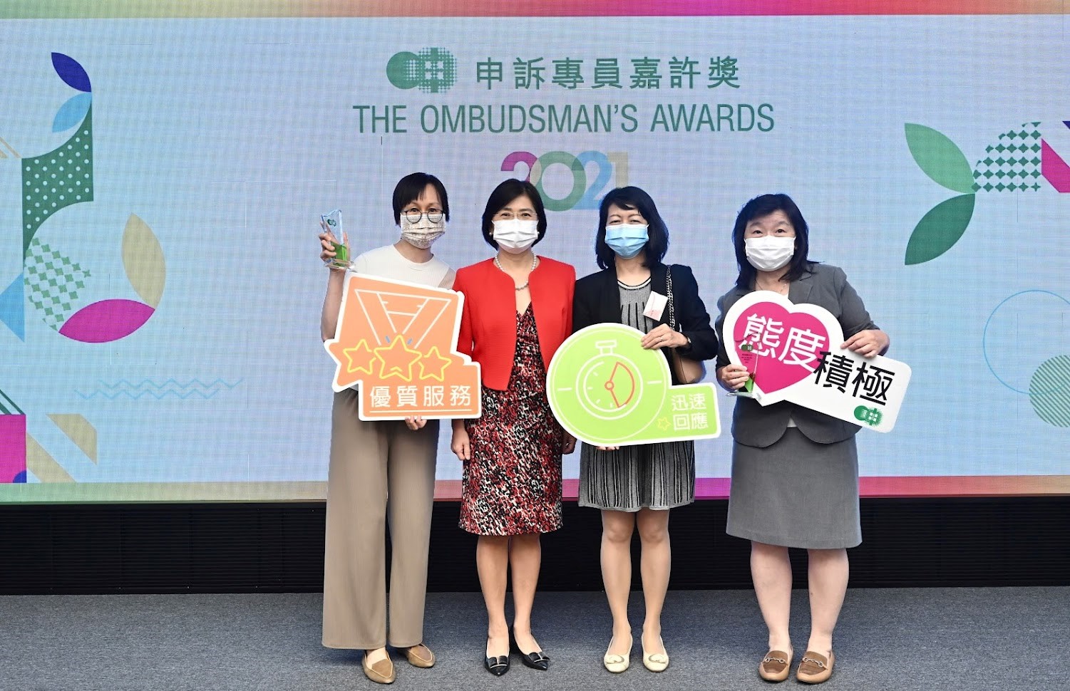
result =
[[597,446],[627,446],[720,434],[714,384],[673,385],[660,351],[642,332],[596,324],[562,343],[547,371],[553,414],[569,434]]

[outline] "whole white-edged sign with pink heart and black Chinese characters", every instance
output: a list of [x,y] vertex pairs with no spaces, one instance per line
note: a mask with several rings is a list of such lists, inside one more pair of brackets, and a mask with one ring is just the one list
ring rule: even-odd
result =
[[762,405],[786,400],[877,432],[895,427],[910,366],[840,348],[843,331],[824,307],[754,291],[729,309],[721,336]]

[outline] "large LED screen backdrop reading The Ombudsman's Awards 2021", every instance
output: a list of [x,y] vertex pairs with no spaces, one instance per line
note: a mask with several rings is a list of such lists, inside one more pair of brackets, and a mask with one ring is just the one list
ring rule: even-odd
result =
[[[863,493],[1070,491],[1061,3],[85,4],[0,19],[0,502],[322,498],[317,219],[393,242],[414,170],[454,266],[507,176],[580,275],[642,186],[712,312],[736,211],[788,193],[914,370]],[[700,494],[730,454],[698,445]],[[457,496],[445,434],[438,469]]]

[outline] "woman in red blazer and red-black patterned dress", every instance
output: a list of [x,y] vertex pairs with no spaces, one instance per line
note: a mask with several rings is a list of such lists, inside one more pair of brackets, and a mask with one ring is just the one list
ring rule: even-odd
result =
[[[526,666],[549,666],[531,631],[539,535],[561,527],[561,456],[576,447],[546,397],[550,358],[572,333],[576,270],[535,255],[544,235],[546,211],[535,186],[506,180],[483,213],[483,236],[498,256],[461,268],[454,281],[464,295],[457,348],[483,368],[483,416],[454,420],[452,448],[464,462],[460,526],[479,536],[484,666],[495,676],[509,671],[510,640]],[[511,631],[505,620],[510,565]]]

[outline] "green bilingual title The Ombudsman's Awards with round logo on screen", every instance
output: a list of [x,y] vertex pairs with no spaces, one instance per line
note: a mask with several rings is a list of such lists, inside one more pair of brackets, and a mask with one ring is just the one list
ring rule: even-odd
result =
[[[461,70],[450,50],[430,47],[394,53],[385,73],[402,91],[463,87],[472,101],[353,104],[361,134],[760,134],[776,124],[773,104],[740,98],[748,66],[727,51],[488,55]],[[509,93],[513,102],[484,96],[492,91]]]

